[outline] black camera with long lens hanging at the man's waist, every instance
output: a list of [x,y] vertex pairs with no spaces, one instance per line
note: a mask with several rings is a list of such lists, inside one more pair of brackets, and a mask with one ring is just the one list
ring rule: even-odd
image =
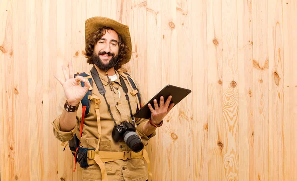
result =
[[130,122],[122,122],[120,125],[114,126],[112,138],[116,142],[124,139],[129,148],[136,153],[144,148],[144,144],[135,132],[135,127]]

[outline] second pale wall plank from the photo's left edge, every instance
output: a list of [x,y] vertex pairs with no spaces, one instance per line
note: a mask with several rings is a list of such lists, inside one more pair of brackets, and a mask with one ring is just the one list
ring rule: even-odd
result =
[[[13,122],[15,131],[15,180],[30,180],[29,157],[29,125],[24,120],[29,120],[29,99],[28,99],[28,3],[27,1],[13,1],[13,87],[14,102]],[[26,139],[27,138],[27,139]]]

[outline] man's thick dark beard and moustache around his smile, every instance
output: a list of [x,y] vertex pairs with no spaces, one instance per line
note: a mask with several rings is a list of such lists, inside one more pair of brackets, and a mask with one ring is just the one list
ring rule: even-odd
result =
[[[103,54],[108,54],[109,56],[112,56],[112,58],[109,60],[107,64],[104,64],[99,57],[99,55],[103,55]],[[90,59],[99,69],[107,72],[107,70],[109,70],[110,68],[113,68],[116,65],[118,61],[118,55],[114,56],[114,53],[111,53],[111,52],[106,53],[104,51],[99,52],[97,55],[95,52],[93,52],[93,55]]]

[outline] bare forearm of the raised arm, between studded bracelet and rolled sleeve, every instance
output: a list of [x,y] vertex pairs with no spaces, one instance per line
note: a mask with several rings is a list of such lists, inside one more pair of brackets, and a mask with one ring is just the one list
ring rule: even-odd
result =
[[77,122],[76,112],[68,112],[63,110],[59,120],[61,131],[68,132],[75,127]]

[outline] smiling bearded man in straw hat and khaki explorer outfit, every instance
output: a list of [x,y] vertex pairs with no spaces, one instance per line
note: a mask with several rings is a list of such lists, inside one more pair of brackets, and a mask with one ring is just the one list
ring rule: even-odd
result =
[[[83,181],[146,181],[144,158],[148,161],[148,155],[143,145],[156,134],[174,103],[169,104],[171,97],[166,101],[161,97],[159,104],[154,100],[154,108],[149,105],[151,118],[134,121],[133,115],[144,99],[133,88],[134,80],[119,70],[131,58],[128,26],[93,17],[86,20],[85,39],[87,62],[94,67],[74,78],[69,63],[69,75],[62,67],[65,80],[56,77],[64,89],[65,105],[52,123],[54,134],[63,143],[80,139],[73,154],[83,167]],[[84,100],[90,102],[89,106],[80,104]],[[131,144],[128,134],[116,136],[120,134],[115,128],[124,124],[136,127],[135,132],[129,132],[129,139],[140,142]]]

